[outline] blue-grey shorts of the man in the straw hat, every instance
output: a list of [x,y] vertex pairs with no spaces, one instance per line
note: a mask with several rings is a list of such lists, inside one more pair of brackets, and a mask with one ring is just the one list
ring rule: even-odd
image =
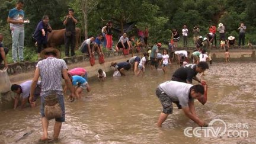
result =
[[56,93],[57,94],[57,101],[59,102],[60,108],[62,110],[62,117],[56,118],[55,121],[59,122],[65,122],[65,105],[64,105],[64,95],[62,91],[46,91],[46,92],[41,92],[41,107],[40,107],[40,113],[41,117],[45,117],[44,115],[44,98],[47,95]]

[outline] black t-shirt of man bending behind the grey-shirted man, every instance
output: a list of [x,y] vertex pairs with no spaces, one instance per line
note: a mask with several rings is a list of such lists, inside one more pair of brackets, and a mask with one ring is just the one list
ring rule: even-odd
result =
[[174,72],[172,76],[180,79],[183,82],[186,82],[186,81],[192,82],[192,79],[194,78],[194,76],[197,75],[196,67],[197,67],[196,64],[188,64],[185,66],[181,66]]

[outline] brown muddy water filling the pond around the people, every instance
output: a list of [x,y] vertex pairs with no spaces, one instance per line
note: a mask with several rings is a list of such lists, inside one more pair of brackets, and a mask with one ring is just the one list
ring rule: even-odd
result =
[[[171,78],[177,66],[171,66],[167,75],[162,71],[146,69],[144,76],[111,78],[105,82],[89,82],[92,91],[74,103],[66,102],[66,122],[63,123],[59,143],[256,143],[255,73],[256,63],[214,63],[204,79],[209,84],[208,101],[196,101],[197,115],[210,122],[225,121],[227,127],[247,126],[248,137],[223,136],[187,137],[184,129],[196,128],[183,111],[174,107],[161,129],[155,126],[162,107],[155,96],[155,88]],[[41,132],[39,107],[31,110],[0,112],[0,143],[15,143],[24,133],[33,133],[17,143],[36,143]],[[49,124],[49,136],[53,134]],[[233,127],[231,127],[233,124]],[[222,126],[213,124],[213,128]]]

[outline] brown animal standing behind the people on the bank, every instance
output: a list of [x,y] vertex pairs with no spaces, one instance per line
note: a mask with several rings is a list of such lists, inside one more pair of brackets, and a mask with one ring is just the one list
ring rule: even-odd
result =
[[[49,47],[57,47],[65,44],[65,28],[61,30],[52,30],[52,33],[48,33],[47,44]],[[81,30],[76,27],[76,41],[75,49],[77,50],[81,44]]]

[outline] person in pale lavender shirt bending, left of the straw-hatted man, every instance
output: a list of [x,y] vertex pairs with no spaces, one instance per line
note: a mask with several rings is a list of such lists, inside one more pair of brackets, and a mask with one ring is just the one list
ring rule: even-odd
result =
[[24,108],[27,102],[30,104],[31,108],[36,107],[36,100],[37,98],[40,97],[41,82],[40,81],[37,82],[36,91],[34,92],[33,102],[30,103],[29,97],[30,97],[31,84],[32,84],[32,81],[25,81],[20,85],[17,85],[17,84],[11,85],[11,91],[17,94],[14,100],[14,109],[16,109],[18,106],[18,102],[21,99],[20,96],[22,97],[21,108]]

